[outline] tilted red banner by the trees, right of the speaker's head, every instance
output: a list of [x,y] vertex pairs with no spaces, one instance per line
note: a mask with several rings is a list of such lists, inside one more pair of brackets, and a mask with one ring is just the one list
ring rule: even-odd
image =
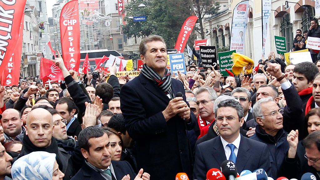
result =
[[197,19],[198,19],[197,16],[190,16],[187,18],[186,21],[184,21],[176,42],[176,46],[173,48],[173,49],[177,49],[178,53],[181,53],[181,52],[183,53],[184,47],[187,44],[187,40],[191,34],[193,27],[196,24]]

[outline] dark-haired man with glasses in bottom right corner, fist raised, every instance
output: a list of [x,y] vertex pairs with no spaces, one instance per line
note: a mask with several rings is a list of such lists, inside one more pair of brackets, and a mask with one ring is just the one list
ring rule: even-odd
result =
[[287,137],[290,148],[282,164],[281,176],[300,179],[304,173],[312,173],[320,180],[320,131],[310,133],[303,142],[298,140],[299,134],[292,130]]

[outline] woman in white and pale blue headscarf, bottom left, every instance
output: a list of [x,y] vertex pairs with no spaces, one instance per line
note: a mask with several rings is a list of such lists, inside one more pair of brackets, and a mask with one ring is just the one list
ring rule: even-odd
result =
[[16,160],[11,168],[13,180],[62,180],[64,174],[56,161],[56,154],[36,151]]

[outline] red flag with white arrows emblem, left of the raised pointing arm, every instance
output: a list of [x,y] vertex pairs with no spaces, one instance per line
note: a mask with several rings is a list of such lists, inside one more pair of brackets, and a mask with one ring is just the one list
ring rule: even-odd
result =
[[40,79],[43,81],[46,81],[46,79],[50,79],[51,81],[64,80],[60,68],[45,58],[41,58],[40,61]]

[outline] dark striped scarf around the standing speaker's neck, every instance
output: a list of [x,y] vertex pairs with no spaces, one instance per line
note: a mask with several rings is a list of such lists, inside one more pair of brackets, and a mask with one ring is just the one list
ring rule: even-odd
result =
[[164,77],[156,73],[153,69],[149,68],[146,64],[143,64],[143,68],[141,70],[141,74],[143,74],[148,79],[152,80],[156,83],[156,85],[165,93],[170,94],[173,99],[173,93],[171,89],[171,73],[167,68],[165,68]]

